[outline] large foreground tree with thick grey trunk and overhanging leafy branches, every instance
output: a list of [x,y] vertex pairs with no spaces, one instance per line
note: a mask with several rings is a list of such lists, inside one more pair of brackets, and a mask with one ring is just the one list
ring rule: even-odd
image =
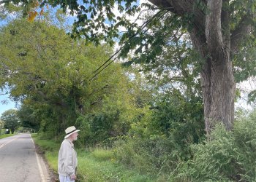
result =
[[[18,4],[21,1],[4,2]],[[150,2],[154,6],[146,4],[146,7],[154,9],[155,13],[142,25],[127,20],[127,15],[134,16],[135,12],[140,11],[136,1],[84,1],[84,4],[79,4],[78,1],[67,3],[59,0],[43,1],[39,6],[61,5],[64,11],[69,9],[70,14],[76,13],[78,20],[74,23],[72,36],[83,35],[88,41],[94,41],[96,44],[102,39],[113,44],[113,38],[120,36],[118,28],[126,27],[127,31],[121,33],[119,41],[122,44],[121,55],[127,55],[129,50],[135,49],[135,53],[140,54],[141,60],[146,63],[154,62],[156,55],[161,54],[164,44],[172,44],[167,42],[165,36],[185,29],[189,33],[193,49],[200,55],[198,60],[203,59],[199,62],[206,132],[209,134],[218,122],[222,122],[227,130],[232,129],[236,91],[233,71],[238,73],[238,76],[235,74],[238,82],[255,75],[255,71],[245,74],[249,64],[255,68],[255,62],[252,62],[254,59],[248,56],[249,52],[255,50],[255,1]],[[23,6],[24,15],[27,15],[28,9],[34,8],[34,1],[25,1]],[[115,6],[124,14],[115,15],[112,11]],[[164,17],[168,18],[165,25],[162,25],[161,20]],[[110,25],[105,21],[110,22]],[[149,31],[152,25],[162,25],[163,28],[160,31]],[[182,38],[179,37],[181,41]],[[147,51],[151,52],[149,58],[143,54]],[[134,59],[132,62],[139,63],[140,60]],[[236,64],[236,67],[233,64]]]

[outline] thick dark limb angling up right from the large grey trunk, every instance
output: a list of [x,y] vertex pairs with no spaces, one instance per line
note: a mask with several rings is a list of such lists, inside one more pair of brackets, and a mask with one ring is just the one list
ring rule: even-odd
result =
[[252,25],[248,23],[250,19],[250,16],[243,17],[236,29],[231,32],[230,49],[232,52],[237,52],[239,43],[252,31]]

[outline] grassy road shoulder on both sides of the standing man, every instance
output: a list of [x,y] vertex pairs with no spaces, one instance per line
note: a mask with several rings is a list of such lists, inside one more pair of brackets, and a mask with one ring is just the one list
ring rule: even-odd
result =
[[[50,168],[57,173],[58,153],[61,143],[42,140],[32,135],[34,142],[45,153]],[[78,149],[78,181],[155,181],[151,175],[142,175],[116,161],[108,149]]]

